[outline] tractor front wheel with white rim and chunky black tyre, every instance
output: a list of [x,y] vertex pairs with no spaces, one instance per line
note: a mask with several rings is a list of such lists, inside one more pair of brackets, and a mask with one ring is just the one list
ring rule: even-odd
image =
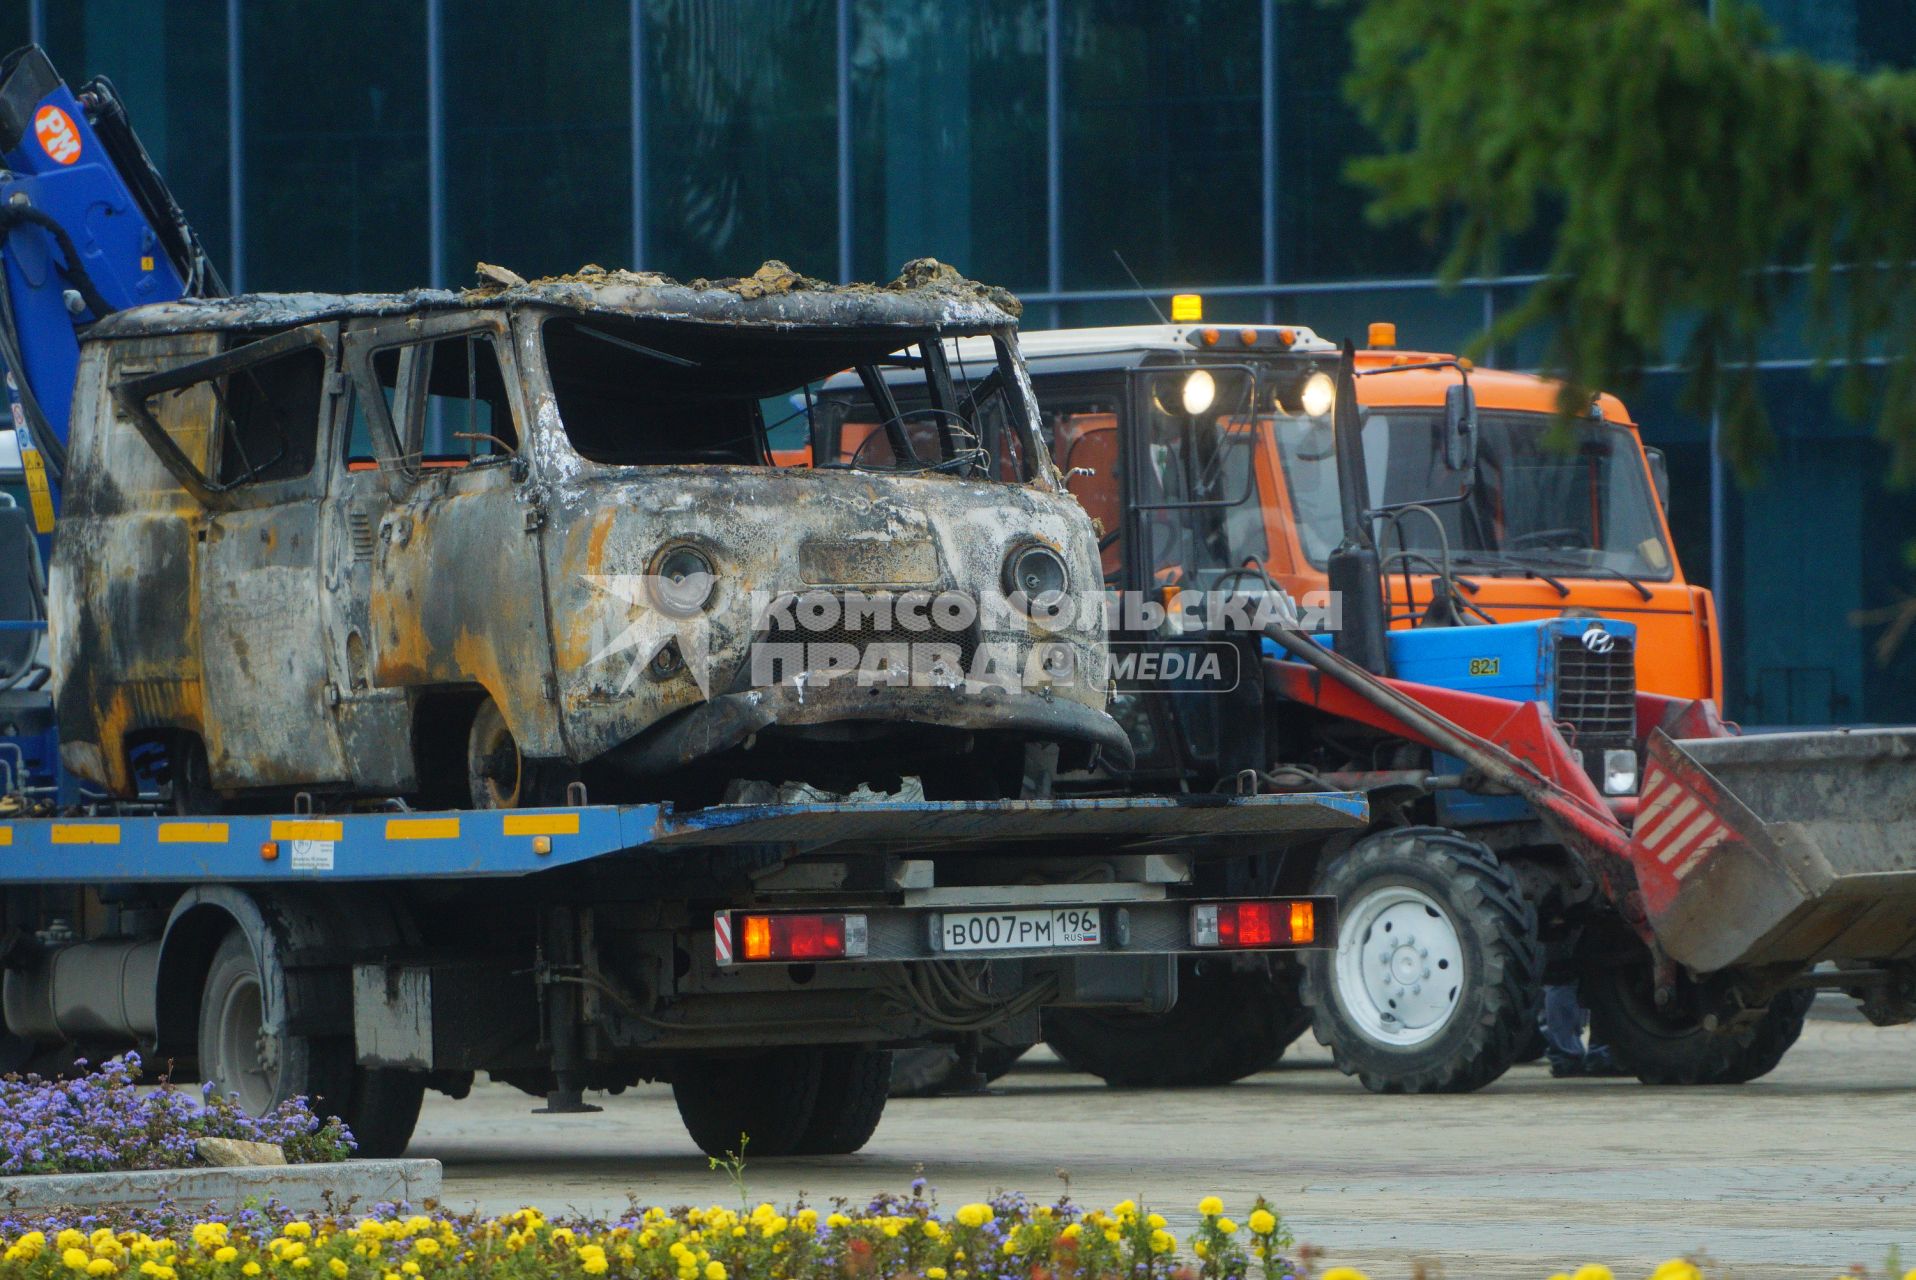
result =
[[1441,828],[1366,835],[1316,893],[1337,899],[1335,950],[1305,952],[1305,1002],[1337,1069],[1383,1094],[1483,1088],[1537,1033],[1537,908],[1473,839]]

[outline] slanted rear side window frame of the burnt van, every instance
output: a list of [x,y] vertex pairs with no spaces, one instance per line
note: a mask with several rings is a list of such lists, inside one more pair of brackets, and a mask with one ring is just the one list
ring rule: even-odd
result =
[[[148,404],[153,397],[169,391],[184,391],[203,381],[230,377],[232,374],[240,374],[307,349],[320,351],[324,356],[324,372],[320,376],[320,404],[312,423],[314,458],[312,466],[303,475],[287,475],[280,479],[257,479],[253,475],[245,475],[232,481],[220,481],[217,475],[207,475],[180,450],[172,437],[167,435],[167,429],[159,423],[159,418],[153,416],[153,410]],[[333,416],[333,402],[341,389],[337,324],[326,322],[307,324],[297,330],[285,330],[284,333],[261,337],[230,351],[222,351],[217,356],[180,364],[159,374],[130,377],[115,383],[111,393],[113,402],[132,420],[134,429],[159,456],[161,466],[165,466],[167,471],[180,481],[194,500],[209,510],[230,512],[247,506],[272,506],[299,494],[301,491],[316,491],[324,483],[326,468],[320,464],[324,456],[324,441],[328,439],[326,425]],[[215,399],[217,402],[220,400],[220,397]],[[209,446],[209,460],[215,466],[218,466],[218,460],[224,458],[226,429],[230,427],[226,410],[220,408],[218,414],[218,429],[215,431],[215,439]]]

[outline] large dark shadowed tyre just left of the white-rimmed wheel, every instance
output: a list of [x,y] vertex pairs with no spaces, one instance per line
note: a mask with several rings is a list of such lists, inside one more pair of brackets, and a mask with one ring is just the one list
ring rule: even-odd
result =
[[1270,973],[1178,964],[1169,1014],[1046,1010],[1044,1042],[1065,1065],[1121,1088],[1230,1085],[1276,1065],[1311,1016]]

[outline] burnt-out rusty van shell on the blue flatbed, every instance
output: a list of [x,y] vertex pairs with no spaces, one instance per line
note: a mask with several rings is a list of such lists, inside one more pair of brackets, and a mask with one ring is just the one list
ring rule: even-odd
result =
[[[556,318],[642,324],[592,335],[661,356],[648,345],[659,335],[741,370],[805,343],[996,335],[1015,374],[1008,412],[1031,441],[1023,475],[588,458],[548,370]],[[485,414],[458,433],[464,458],[433,460],[422,441],[445,408],[446,379],[431,374],[445,356],[416,353],[446,343],[466,353],[464,412],[485,400]],[[1129,755],[1104,711],[1102,619],[1088,615],[981,636],[1069,650],[1067,676],[1021,688],[749,680],[766,596],[952,590],[1004,615],[1004,560],[1033,542],[1077,584],[1098,583],[1090,521],[1033,446],[1015,360],[1015,301],[937,264],[885,287],[766,264],[690,286],[582,272],[119,312],[82,349],[52,565],[65,761],[117,795],[132,793],[144,742],[172,747],[176,791],[431,793],[464,780],[487,701],[521,772],[554,763],[565,776],[667,778],[703,763],[764,778],[753,749],[768,768],[830,759],[835,782],[1029,743]],[[249,435],[255,420],[270,439]],[[757,439],[763,454],[763,420]],[[634,586],[674,546],[715,571],[692,617]]]

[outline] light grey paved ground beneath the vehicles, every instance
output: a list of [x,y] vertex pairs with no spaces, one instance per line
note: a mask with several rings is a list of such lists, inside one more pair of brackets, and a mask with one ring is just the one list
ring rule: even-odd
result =
[[[1828,1002],[1826,1002],[1828,1004]],[[1734,1274],[1822,1276],[1916,1259],[1916,1027],[1876,1029],[1818,1006],[1770,1077],[1650,1090],[1517,1067],[1464,1098],[1376,1098],[1309,1042],[1228,1088],[1111,1090],[1035,1056],[983,1098],[895,1102],[845,1159],[751,1161],[755,1196],[814,1203],[899,1188],[914,1169],[947,1205],[992,1188],[1134,1196],[1188,1226],[1209,1192],[1263,1192],[1301,1240],[1372,1276],[1412,1261],[1454,1280],[1608,1261],[1648,1274],[1703,1249]],[[671,1092],[600,1098],[604,1115],[535,1117],[481,1086],[431,1096],[408,1155],[445,1161],[446,1200],[548,1211],[726,1200],[678,1127]]]

